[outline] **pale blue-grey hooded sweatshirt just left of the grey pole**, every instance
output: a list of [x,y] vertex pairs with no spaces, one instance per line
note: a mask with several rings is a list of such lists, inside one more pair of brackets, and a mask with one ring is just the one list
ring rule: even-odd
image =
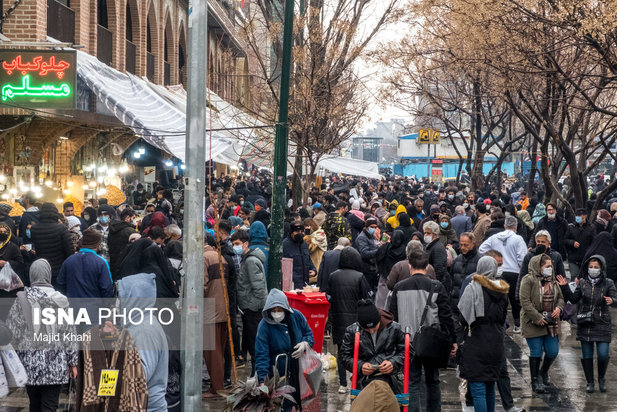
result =
[[[126,276],[118,281],[118,297],[120,304],[126,308],[141,309],[155,307],[156,281],[152,273],[138,273]],[[174,320],[177,322],[178,320]],[[137,322],[135,322],[137,323]],[[163,328],[156,321],[132,324],[127,322],[128,329],[137,349],[148,384],[148,412],[166,412],[167,373],[169,352],[167,338]]]

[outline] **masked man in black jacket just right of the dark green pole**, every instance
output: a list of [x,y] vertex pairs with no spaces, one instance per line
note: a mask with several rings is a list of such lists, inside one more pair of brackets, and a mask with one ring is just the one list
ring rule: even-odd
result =
[[283,257],[293,259],[294,288],[302,289],[317,270],[311,261],[311,254],[304,241],[304,224],[294,222],[290,225],[289,237],[283,240]]

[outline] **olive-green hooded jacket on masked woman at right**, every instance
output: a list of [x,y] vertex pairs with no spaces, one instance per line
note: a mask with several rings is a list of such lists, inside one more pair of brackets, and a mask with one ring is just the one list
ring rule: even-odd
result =
[[[546,336],[548,328],[540,326],[538,323],[542,321],[542,283],[540,274],[540,259],[541,255],[534,256],[529,262],[529,273],[525,275],[521,281],[519,290],[521,298],[521,333],[525,338],[537,338]],[[552,280],[555,298],[553,306],[560,308],[563,312],[563,293],[553,277]]]

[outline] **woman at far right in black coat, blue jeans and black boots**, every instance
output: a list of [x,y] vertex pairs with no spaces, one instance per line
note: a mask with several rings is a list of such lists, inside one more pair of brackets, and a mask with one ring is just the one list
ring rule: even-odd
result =
[[[609,363],[609,345],[612,338],[611,312],[609,306],[617,306],[615,283],[606,277],[606,262],[600,255],[591,256],[583,265],[581,278],[574,292],[568,281],[558,276],[557,281],[565,299],[578,303],[576,340],[581,342],[583,371],[587,380],[587,392],[593,393],[593,352],[598,352],[598,385],[606,392],[606,369]],[[578,317],[577,317],[578,319]],[[595,344],[595,345],[594,345]]]

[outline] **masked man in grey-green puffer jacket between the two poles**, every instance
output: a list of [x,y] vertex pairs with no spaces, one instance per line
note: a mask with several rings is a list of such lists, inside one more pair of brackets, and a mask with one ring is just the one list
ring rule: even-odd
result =
[[255,370],[255,336],[266,303],[268,289],[264,264],[266,255],[260,249],[249,249],[249,235],[238,230],[231,235],[233,251],[242,256],[237,280],[238,307],[242,312],[242,352],[251,355]]

